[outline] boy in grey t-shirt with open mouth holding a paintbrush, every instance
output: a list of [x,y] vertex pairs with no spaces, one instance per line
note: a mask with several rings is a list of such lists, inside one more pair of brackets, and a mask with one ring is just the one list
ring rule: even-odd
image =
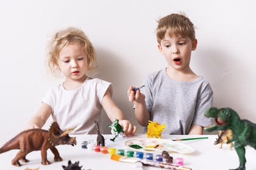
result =
[[168,66],[148,75],[143,93],[129,87],[135,117],[144,127],[149,120],[165,123],[164,134],[202,134],[203,127],[212,123],[204,111],[212,106],[213,91],[190,69],[191,52],[197,46],[194,25],[182,14],[165,16],[158,21],[157,42]]

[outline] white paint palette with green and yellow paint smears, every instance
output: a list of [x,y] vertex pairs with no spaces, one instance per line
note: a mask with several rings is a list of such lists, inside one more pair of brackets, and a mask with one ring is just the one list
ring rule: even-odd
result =
[[179,152],[180,154],[191,154],[194,152],[194,148],[187,144],[162,138],[135,138],[127,140],[125,145],[133,151],[152,154],[162,151]]

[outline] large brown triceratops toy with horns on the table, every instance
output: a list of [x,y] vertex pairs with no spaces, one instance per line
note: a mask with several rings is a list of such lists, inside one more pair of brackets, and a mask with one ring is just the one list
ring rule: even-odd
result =
[[47,150],[51,149],[54,154],[54,161],[62,161],[58,150],[55,146],[59,144],[76,144],[76,137],[69,137],[68,133],[73,131],[74,127],[62,131],[59,125],[54,122],[51,124],[49,131],[43,129],[29,129],[16,135],[10,141],[0,148],[0,154],[12,149],[20,149],[16,157],[12,160],[12,165],[21,166],[19,160],[27,162],[26,155],[32,151],[41,150],[41,164],[48,165]]

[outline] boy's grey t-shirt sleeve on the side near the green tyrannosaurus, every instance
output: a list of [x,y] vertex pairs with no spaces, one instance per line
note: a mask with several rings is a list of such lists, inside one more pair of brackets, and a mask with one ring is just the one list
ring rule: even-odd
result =
[[204,115],[205,110],[208,107],[212,107],[212,104],[213,104],[213,90],[210,87],[210,84],[207,84],[200,98],[197,100],[193,124],[197,124],[202,127],[213,124],[212,118],[207,118]]

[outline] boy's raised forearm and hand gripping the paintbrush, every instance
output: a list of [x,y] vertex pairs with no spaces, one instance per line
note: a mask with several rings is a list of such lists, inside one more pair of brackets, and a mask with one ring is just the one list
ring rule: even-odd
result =
[[134,101],[135,117],[141,126],[148,126],[151,114],[146,107],[145,95],[141,94],[140,89],[136,90],[136,92],[133,89],[135,89],[135,87],[130,86],[127,95],[129,101]]

